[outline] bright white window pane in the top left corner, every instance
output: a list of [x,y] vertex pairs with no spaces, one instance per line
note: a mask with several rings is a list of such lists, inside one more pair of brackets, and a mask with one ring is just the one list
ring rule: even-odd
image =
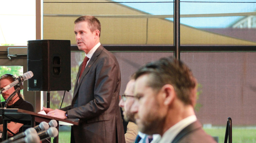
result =
[[34,40],[35,0],[1,0],[0,5],[0,46],[26,46]]

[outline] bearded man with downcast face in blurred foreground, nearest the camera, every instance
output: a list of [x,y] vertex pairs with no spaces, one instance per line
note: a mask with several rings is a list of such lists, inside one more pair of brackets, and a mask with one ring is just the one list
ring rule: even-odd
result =
[[135,78],[131,111],[141,132],[160,134],[158,143],[216,143],[197,121],[197,81],[185,64],[162,58],[141,67]]

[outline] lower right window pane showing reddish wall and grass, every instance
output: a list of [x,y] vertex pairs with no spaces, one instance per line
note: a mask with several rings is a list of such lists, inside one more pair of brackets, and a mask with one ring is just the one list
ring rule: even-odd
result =
[[255,142],[255,57],[255,52],[181,53],[200,85],[198,120],[220,143],[228,117],[232,118],[233,142]]

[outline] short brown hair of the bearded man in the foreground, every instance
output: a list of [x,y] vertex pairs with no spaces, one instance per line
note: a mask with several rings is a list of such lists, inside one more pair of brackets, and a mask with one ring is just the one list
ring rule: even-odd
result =
[[197,81],[191,70],[181,61],[172,57],[161,58],[142,66],[136,73],[135,79],[147,74],[146,85],[157,92],[166,84],[171,84],[177,97],[185,105],[195,105]]

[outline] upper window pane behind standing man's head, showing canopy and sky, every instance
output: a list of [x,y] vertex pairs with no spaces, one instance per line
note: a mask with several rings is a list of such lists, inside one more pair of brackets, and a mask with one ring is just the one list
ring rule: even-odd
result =
[[[94,15],[102,25],[103,45],[173,45],[173,22],[165,19],[173,13],[173,2],[58,2],[44,0],[44,39],[69,39],[75,45],[74,20],[81,15]],[[160,11],[162,14],[158,15]]]

